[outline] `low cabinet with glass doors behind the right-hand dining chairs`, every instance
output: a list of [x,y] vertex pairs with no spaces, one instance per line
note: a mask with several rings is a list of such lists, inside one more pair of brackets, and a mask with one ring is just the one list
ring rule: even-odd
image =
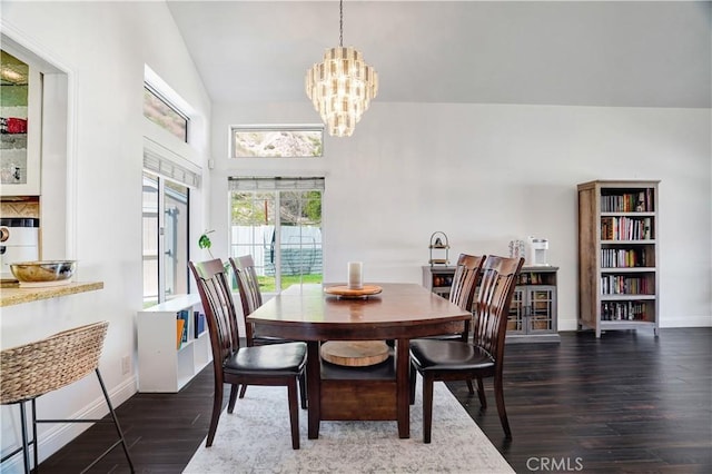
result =
[[[424,266],[423,286],[449,298],[455,267]],[[524,266],[507,316],[507,343],[560,342],[556,322],[558,267]]]

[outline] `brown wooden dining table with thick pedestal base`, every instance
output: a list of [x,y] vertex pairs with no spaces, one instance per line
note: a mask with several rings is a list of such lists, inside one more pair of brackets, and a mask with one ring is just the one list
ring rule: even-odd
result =
[[[469,313],[421,285],[374,285],[379,294],[356,298],[326,294],[327,284],[293,286],[247,318],[259,334],[307,343],[309,440],[322,421],[397,421],[409,437],[409,340],[468,328]],[[328,340],[394,344],[385,362],[347,367],[323,361]]]

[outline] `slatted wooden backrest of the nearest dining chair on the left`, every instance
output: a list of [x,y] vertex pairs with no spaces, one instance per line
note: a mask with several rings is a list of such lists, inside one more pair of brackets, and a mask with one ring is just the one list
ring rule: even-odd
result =
[[198,284],[202,310],[208,323],[215,374],[221,377],[222,362],[240,347],[230,284],[222,261],[218,258],[208,261],[189,261],[188,266]]

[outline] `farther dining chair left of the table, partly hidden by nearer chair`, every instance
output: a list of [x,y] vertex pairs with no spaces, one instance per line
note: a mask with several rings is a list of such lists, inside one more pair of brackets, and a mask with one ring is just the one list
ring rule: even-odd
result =
[[[243,306],[243,320],[245,322],[245,338],[247,346],[263,346],[267,344],[283,344],[291,343],[293,340],[283,339],[280,337],[259,335],[255,332],[255,325],[247,320],[247,316],[251,315],[255,309],[263,305],[263,294],[259,289],[259,280],[257,279],[257,271],[255,270],[255,259],[251,255],[243,255],[237,258],[230,257],[228,259],[233,271],[235,273],[235,279],[237,280],[237,289],[240,295],[240,303]],[[306,393],[306,373],[301,374],[299,378],[299,399],[301,408],[307,407],[307,393]],[[239,397],[244,398],[247,392],[247,385],[243,384],[239,392]]]

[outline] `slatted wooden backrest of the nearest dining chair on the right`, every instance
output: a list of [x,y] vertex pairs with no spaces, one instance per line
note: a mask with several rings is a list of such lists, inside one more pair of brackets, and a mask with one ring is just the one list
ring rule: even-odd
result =
[[484,348],[502,369],[510,304],[524,258],[487,255],[473,305],[473,344]]

